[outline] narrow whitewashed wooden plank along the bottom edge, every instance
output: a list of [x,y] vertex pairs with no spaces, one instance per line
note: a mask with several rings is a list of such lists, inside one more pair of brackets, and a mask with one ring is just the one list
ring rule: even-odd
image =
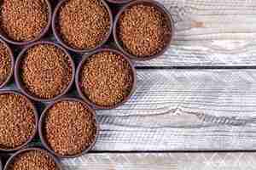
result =
[[65,170],[253,170],[253,152],[89,154],[63,160]]

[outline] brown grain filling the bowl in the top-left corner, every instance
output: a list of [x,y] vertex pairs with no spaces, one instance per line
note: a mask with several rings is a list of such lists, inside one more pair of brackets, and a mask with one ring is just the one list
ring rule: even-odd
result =
[[31,41],[48,23],[48,6],[44,0],[3,0],[0,30],[11,40]]

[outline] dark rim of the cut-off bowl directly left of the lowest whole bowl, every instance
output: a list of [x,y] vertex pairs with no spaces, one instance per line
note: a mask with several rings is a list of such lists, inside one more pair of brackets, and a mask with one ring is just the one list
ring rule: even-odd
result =
[[[24,96],[23,94],[20,94],[19,92],[16,92],[16,91],[13,91],[13,90],[1,90],[0,91],[0,95],[1,94],[16,94],[16,95]],[[24,96],[24,97],[26,97],[26,96]],[[38,133],[38,119],[39,119],[38,118],[38,111],[37,111],[36,107],[32,104],[32,101],[30,101],[30,99],[27,99],[27,100],[32,105],[32,109],[33,109],[33,112],[34,112],[34,115],[35,115],[35,119],[36,119],[35,120],[36,121],[35,133],[33,133],[31,138],[28,139],[25,144],[22,144],[22,145],[20,145],[20,146],[18,146],[16,148],[13,148],[13,149],[3,149],[3,148],[0,148],[0,151],[12,152],[12,151],[20,150],[23,147],[25,147],[26,144],[30,143],[32,141],[32,139],[34,139],[36,134]]]

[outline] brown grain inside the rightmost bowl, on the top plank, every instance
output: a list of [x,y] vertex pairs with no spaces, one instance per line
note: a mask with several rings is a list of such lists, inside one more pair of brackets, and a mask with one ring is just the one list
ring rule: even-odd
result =
[[120,15],[117,36],[129,54],[149,57],[166,46],[167,38],[172,33],[167,23],[158,8],[136,4]]

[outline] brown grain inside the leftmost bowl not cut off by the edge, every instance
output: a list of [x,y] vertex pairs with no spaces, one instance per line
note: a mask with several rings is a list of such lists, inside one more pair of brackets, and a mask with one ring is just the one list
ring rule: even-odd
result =
[[39,99],[53,99],[67,89],[73,68],[61,48],[38,44],[28,48],[22,56],[20,75],[28,94]]

